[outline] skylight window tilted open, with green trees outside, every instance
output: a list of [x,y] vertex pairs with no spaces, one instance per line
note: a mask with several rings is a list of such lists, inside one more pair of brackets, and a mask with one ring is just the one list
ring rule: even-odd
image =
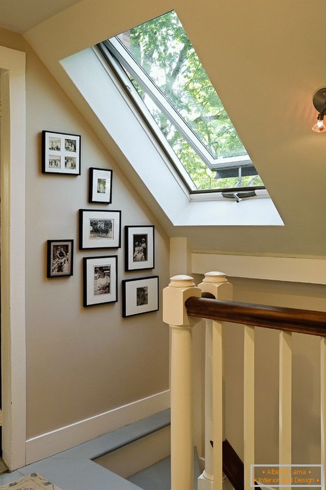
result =
[[174,11],[104,42],[190,191],[264,185]]

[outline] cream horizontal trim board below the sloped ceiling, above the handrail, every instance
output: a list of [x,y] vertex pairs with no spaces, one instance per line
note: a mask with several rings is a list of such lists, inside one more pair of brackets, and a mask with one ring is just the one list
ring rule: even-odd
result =
[[326,284],[326,258],[304,259],[192,253],[192,273],[204,274],[211,270],[225,272],[231,277]]

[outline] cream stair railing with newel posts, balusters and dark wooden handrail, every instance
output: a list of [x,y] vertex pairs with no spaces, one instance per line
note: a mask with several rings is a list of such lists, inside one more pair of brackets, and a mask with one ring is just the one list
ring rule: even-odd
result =
[[[192,490],[193,432],[192,400],[192,327],[205,319],[205,469],[198,480],[198,490],[222,490],[223,472],[235,490],[298,488],[306,483],[293,482],[275,475],[293,470],[314,473],[314,485],[325,490],[326,466],[326,313],[293,308],[277,308],[232,301],[232,288],[225,274],[208,272],[196,287],[193,277],[179,275],[163,293],[163,320],[171,328],[171,488]],[[244,462],[225,439],[223,415],[223,329],[224,322],[243,325],[243,454]],[[278,331],[279,400],[278,461],[255,464],[255,328]],[[320,356],[320,460],[306,470],[292,462],[292,333],[318,336]],[[297,403],[297,401],[296,401]],[[182,417],[180,416],[182,414]],[[214,441],[214,448],[211,445]],[[233,461],[233,462],[232,462]],[[320,461],[322,465],[320,465]],[[302,464],[301,464],[302,466]],[[313,468],[315,466],[316,468]],[[266,471],[265,471],[266,470]],[[312,470],[312,471],[310,471]],[[319,472],[319,473],[318,473]],[[265,474],[265,475],[264,475]],[[269,474],[274,477],[269,478]],[[255,480],[257,478],[257,480]],[[266,483],[268,483],[267,486]],[[274,485],[273,485],[274,483]],[[282,485],[282,483],[286,483]],[[307,482],[308,483],[308,482]],[[313,483],[313,482],[309,482]],[[302,485],[301,485],[302,486]],[[312,485],[311,485],[312,486]]]

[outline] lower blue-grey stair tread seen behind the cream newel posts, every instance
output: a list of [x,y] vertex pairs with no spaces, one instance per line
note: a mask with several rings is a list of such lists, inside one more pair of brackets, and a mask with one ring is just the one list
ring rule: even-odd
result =
[[[201,474],[196,448],[194,448],[194,490],[197,490],[197,478]],[[170,490],[171,489],[171,458],[161,459],[145,470],[138,471],[127,478],[128,481],[144,490]]]

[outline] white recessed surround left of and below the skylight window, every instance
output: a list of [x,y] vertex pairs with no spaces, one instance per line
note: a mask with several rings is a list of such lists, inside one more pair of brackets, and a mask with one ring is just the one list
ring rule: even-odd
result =
[[[174,226],[283,226],[268,192],[239,204],[219,191],[190,193],[148,122],[128,96],[98,48],[87,48],[61,59],[64,72],[76,87],[79,107],[121,170],[145,200],[152,196]],[[87,69],[85,69],[87,67]],[[129,81],[130,83],[130,81]],[[81,99],[80,99],[81,98]],[[153,172],[153,169],[154,172]],[[133,178],[133,172],[139,179]],[[149,198],[152,206],[153,202]]]

